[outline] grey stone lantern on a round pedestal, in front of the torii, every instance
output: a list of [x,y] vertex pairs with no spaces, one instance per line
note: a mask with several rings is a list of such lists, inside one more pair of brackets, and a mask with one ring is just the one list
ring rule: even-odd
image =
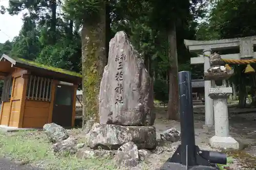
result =
[[211,81],[208,95],[214,102],[215,136],[210,138],[214,148],[239,149],[239,143],[229,135],[227,98],[232,94],[232,87],[226,87],[225,80],[233,75],[233,69],[222,66],[221,56],[210,56],[210,68],[204,72],[204,79]]

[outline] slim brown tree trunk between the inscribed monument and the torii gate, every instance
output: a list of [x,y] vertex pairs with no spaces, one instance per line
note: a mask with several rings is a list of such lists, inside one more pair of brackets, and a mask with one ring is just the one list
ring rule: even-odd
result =
[[170,61],[169,68],[169,102],[168,102],[168,119],[179,119],[179,91],[178,91],[178,54],[176,45],[176,26],[173,23],[168,33],[168,56]]

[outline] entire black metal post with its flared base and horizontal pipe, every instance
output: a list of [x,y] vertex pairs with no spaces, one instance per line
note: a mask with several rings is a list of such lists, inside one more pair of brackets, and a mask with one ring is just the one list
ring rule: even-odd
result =
[[[226,154],[203,151],[195,145],[194,113],[189,71],[179,72],[181,144],[160,170],[217,170],[216,163],[226,164]],[[212,166],[214,164],[214,166]]]

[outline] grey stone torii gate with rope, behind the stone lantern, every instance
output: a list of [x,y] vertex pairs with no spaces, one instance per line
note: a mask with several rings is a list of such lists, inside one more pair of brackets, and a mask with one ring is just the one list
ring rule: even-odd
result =
[[[190,64],[204,64],[204,71],[210,67],[209,56],[211,51],[223,51],[227,49],[240,49],[239,54],[221,55],[222,59],[256,59],[256,52],[253,52],[253,45],[256,44],[256,36],[244,38],[221,39],[211,41],[184,40],[190,52],[203,53],[199,57],[190,59]],[[209,98],[211,81],[204,81],[205,93],[205,125],[214,126],[213,101]]]

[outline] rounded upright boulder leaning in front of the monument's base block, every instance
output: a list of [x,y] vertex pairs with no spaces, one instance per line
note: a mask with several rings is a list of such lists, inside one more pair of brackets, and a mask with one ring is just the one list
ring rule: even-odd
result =
[[139,163],[139,151],[134,142],[127,142],[118,148],[115,160],[120,166],[136,166]]

